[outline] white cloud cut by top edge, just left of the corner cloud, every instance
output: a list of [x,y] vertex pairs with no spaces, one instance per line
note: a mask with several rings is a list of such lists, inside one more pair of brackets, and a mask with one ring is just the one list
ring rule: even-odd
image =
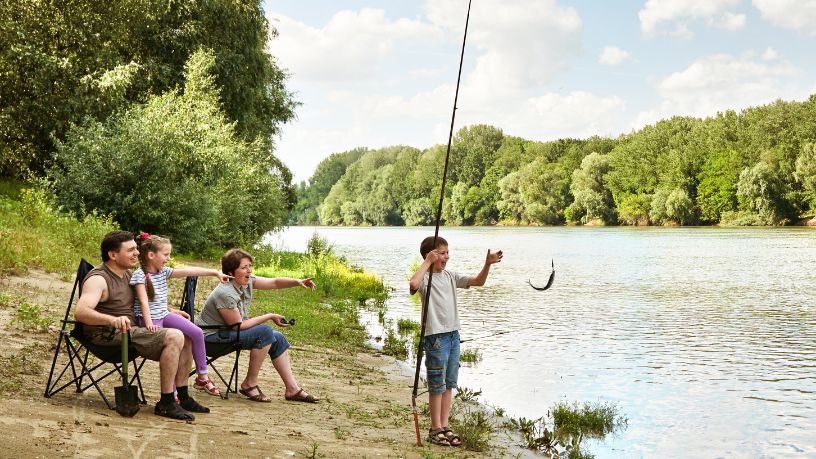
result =
[[688,21],[704,20],[706,24],[726,30],[737,30],[745,25],[745,15],[729,11],[740,0],[648,0],[638,12],[640,30],[654,35],[668,23],[675,24],[670,35],[688,39],[693,36]]

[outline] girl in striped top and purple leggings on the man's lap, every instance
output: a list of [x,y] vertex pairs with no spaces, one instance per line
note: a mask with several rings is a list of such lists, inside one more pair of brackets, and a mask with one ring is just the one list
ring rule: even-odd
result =
[[167,279],[186,276],[218,276],[221,282],[229,282],[232,276],[215,269],[179,268],[173,269],[165,264],[170,260],[173,246],[170,240],[141,233],[139,242],[139,268],[133,272],[130,285],[134,286],[136,301],[133,313],[136,323],[151,332],[161,327],[181,330],[193,346],[193,359],[198,376],[193,384],[196,389],[205,390],[211,395],[220,395],[218,387],[207,376],[207,358],[204,350],[204,333],[190,321],[190,316],[178,309],[167,307]]

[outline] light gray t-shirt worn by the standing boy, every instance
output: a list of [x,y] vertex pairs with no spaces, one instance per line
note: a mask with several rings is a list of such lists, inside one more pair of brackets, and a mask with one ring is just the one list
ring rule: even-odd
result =
[[[443,269],[434,273],[431,284],[431,304],[428,306],[428,319],[425,321],[425,335],[447,333],[459,330],[459,308],[457,307],[456,289],[468,288],[470,276]],[[425,292],[428,290],[428,273],[419,284],[419,294],[425,305]]]

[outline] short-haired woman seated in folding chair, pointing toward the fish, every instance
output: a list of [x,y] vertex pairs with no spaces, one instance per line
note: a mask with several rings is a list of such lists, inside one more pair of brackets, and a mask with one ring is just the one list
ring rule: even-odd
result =
[[[252,275],[252,256],[241,250],[231,249],[221,258],[221,271],[233,278],[225,284],[220,284],[210,293],[204,303],[204,309],[196,318],[196,324],[227,325],[240,323],[240,342],[243,349],[249,349],[249,368],[241,388],[238,390],[255,402],[271,402],[258,387],[258,374],[264,357],[269,355],[272,365],[286,386],[284,398],[296,402],[315,403],[317,398],[301,388],[292,374],[289,364],[289,342],[282,333],[272,330],[266,322],[272,321],[279,327],[288,327],[283,316],[274,313],[263,314],[250,318],[249,305],[255,289],[268,290],[290,287],[314,288],[312,278],[290,279],[286,277],[256,277]],[[204,340],[212,343],[234,341],[235,330],[217,331],[204,330]]]

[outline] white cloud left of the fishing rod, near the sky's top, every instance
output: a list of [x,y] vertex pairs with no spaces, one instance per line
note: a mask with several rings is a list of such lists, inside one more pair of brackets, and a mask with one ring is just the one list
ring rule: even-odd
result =
[[339,11],[321,28],[269,13],[278,37],[270,51],[300,81],[372,78],[382,62],[395,55],[398,42],[441,38],[437,28],[419,20],[389,21],[383,10]]

